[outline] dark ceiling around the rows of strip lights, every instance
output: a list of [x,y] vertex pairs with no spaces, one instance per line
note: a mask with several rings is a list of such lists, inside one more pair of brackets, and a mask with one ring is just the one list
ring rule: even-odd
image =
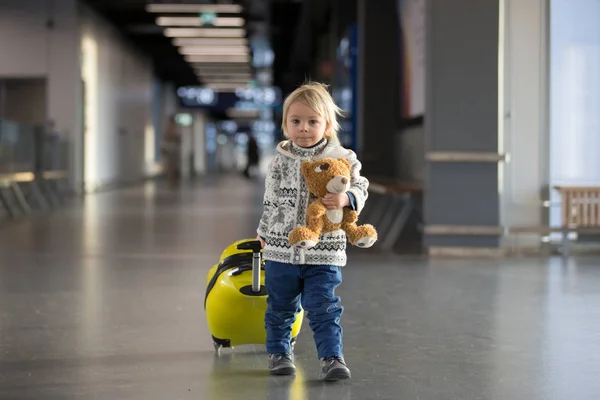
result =
[[[275,52],[273,65],[274,84],[281,86],[286,71],[289,71],[294,37],[297,35],[297,22],[300,19],[302,0],[83,0],[152,60],[156,76],[176,86],[203,83],[194,68],[184,59],[172,38],[163,34],[163,27],[156,24],[156,18],[163,15],[146,10],[148,3],[166,4],[238,4],[241,14],[221,16],[242,17],[246,37],[251,39],[263,35],[271,39]],[[306,0],[304,0],[306,1]],[[325,0],[320,0],[325,3]],[[187,14],[188,16],[194,14]],[[184,14],[169,14],[184,16]],[[225,29],[225,28],[223,28]],[[228,28],[227,28],[228,29]]]

